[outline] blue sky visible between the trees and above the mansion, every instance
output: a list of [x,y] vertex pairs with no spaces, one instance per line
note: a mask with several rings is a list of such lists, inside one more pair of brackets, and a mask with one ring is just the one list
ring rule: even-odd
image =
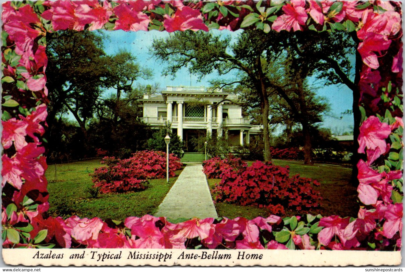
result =
[[[241,30],[237,32],[229,32],[226,30],[217,31],[220,34],[231,35],[233,39],[237,38]],[[143,67],[151,69],[154,73],[152,79],[144,80],[139,79],[141,84],[153,84],[155,82],[160,83],[161,88],[166,88],[166,86],[190,86],[190,73],[187,69],[181,69],[176,77],[172,79],[171,76],[164,77],[162,71],[165,64],[160,60],[155,60],[153,56],[149,54],[149,48],[152,45],[153,39],[165,38],[169,35],[167,32],[158,32],[156,30],[145,32],[124,32],[122,30],[116,31],[103,31],[109,39],[104,42],[104,50],[107,54],[115,54],[119,49],[125,49],[130,51],[134,56],[136,56],[139,64]],[[209,81],[217,78],[218,75],[215,71],[210,75],[198,78],[195,75],[191,75],[191,85],[192,86],[209,86]],[[198,81],[198,79],[200,81]],[[333,118],[330,116],[340,117],[341,113],[351,109],[353,103],[352,91],[347,88],[347,86],[333,85],[325,86],[322,81],[315,81],[309,79],[310,86],[316,86],[315,93],[318,96],[326,98],[330,104],[330,112],[324,116],[324,122],[321,124],[322,127],[330,128],[332,131],[349,131],[353,126],[353,116],[345,115],[342,119]],[[314,88],[315,89],[315,88]]]

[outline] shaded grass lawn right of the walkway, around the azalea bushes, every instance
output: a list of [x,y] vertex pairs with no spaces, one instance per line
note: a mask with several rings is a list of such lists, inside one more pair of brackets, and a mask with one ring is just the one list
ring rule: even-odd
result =
[[[247,162],[252,165],[252,161]],[[323,216],[339,215],[339,216],[354,216],[357,217],[359,205],[357,203],[357,191],[354,186],[350,185],[350,177],[352,169],[339,165],[315,164],[304,165],[298,161],[283,161],[273,160],[275,165],[285,167],[290,166],[290,176],[300,174],[301,177],[312,178],[321,183],[320,188],[322,200],[320,207],[312,208],[309,211],[297,212],[296,210],[286,209],[286,216],[292,216],[303,213],[322,214]],[[208,184],[211,189],[219,183],[218,179],[209,179]],[[215,195],[213,195],[215,200]],[[239,206],[228,203],[215,203],[215,208],[219,216],[234,218],[242,216],[248,219],[253,219],[257,216],[269,216],[269,212],[264,209]]]

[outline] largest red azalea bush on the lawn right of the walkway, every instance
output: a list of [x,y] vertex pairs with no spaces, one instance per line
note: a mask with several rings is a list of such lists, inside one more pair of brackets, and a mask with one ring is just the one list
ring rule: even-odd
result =
[[219,202],[255,205],[283,214],[287,207],[301,210],[319,206],[320,192],[314,187],[319,185],[299,175],[290,177],[288,167],[256,161],[244,171],[226,169],[214,193]]

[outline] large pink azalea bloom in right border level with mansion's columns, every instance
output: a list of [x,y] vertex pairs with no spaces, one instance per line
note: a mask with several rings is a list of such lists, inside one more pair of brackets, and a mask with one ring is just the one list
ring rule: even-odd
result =
[[382,153],[386,152],[385,139],[390,135],[390,126],[386,123],[382,123],[378,117],[370,116],[360,126],[359,141],[359,153],[364,153],[364,148],[375,149],[379,148]]

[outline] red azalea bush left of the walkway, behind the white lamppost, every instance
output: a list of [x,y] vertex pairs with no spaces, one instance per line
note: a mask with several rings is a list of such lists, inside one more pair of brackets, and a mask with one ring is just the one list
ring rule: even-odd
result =
[[[166,176],[166,153],[161,151],[139,151],[127,159],[104,157],[101,163],[107,164],[90,174],[94,186],[101,193],[122,193],[145,189],[148,179]],[[183,164],[173,154],[169,154],[169,176]]]

